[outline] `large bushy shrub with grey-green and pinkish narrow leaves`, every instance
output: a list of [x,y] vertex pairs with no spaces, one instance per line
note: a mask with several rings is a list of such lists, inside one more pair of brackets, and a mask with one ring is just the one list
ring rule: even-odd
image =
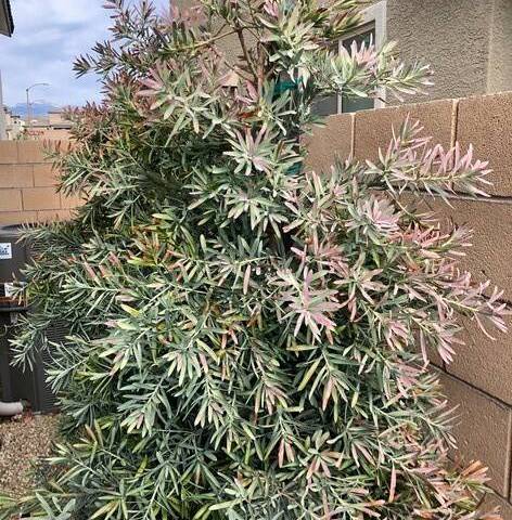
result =
[[104,102],[57,158],[88,202],[30,233],[17,362],[67,324],[47,346],[67,440],[24,518],[498,518],[485,469],[447,459],[426,353],[451,360],[460,316],[504,329],[501,292],[458,266],[468,230],[414,208],[482,195],[487,164],[409,122],[374,164],[304,164],[315,100],[428,82],[392,46],[329,50],[362,3],[107,2],[112,40],[76,64]]

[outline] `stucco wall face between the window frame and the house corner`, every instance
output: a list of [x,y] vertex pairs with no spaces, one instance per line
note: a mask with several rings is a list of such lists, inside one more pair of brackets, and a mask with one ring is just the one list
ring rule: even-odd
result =
[[[400,57],[432,66],[431,99],[487,92],[495,0],[388,0],[388,39]],[[512,9],[512,4],[511,4]]]

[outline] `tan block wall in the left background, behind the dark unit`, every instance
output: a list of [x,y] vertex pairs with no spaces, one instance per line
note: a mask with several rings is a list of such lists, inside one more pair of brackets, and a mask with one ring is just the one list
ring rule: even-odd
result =
[[76,198],[55,190],[41,141],[0,141],[0,225],[68,219]]

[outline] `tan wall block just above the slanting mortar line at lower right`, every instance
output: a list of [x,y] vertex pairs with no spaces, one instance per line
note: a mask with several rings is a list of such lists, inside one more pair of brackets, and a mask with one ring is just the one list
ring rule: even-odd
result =
[[[510,322],[510,321],[509,321]],[[512,336],[488,328],[488,338],[475,322],[463,320],[465,344],[456,348],[448,373],[512,405]],[[510,325],[510,323],[509,323]]]

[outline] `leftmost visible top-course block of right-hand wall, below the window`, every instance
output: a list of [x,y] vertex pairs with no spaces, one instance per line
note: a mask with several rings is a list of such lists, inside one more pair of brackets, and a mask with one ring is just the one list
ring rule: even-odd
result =
[[351,154],[354,116],[342,114],[325,119],[324,127],[315,127],[312,135],[304,138],[308,148],[306,168],[308,170],[329,171],[336,156],[342,160]]

